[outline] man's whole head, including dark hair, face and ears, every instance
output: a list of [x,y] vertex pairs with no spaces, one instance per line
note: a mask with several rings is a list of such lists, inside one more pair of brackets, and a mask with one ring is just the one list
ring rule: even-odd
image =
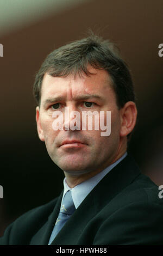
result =
[[[133,83],[110,42],[91,35],[54,50],[36,75],[34,94],[39,137],[66,174],[98,173],[126,152],[137,114]],[[65,107],[80,114],[111,111],[111,135],[102,137],[95,129],[54,131],[53,113]]]

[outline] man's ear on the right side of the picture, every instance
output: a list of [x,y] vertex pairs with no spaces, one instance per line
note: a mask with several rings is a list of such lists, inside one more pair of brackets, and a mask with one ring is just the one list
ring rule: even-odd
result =
[[121,112],[121,130],[120,136],[125,137],[131,131],[133,131],[136,124],[137,109],[133,101],[128,101],[123,108],[120,109]]

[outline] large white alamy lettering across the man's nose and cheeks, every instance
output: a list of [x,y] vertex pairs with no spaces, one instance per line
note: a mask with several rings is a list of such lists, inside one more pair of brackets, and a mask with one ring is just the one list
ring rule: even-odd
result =
[[111,111],[82,111],[81,117],[80,112],[70,112],[69,108],[65,107],[64,114],[61,111],[54,111],[52,117],[55,118],[52,124],[54,131],[101,130],[105,131],[101,132],[101,136],[110,136],[111,134]]

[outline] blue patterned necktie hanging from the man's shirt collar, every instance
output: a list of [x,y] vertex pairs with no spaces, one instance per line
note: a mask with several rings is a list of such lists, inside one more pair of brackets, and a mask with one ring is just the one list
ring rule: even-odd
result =
[[57,221],[55,222],[49,244],[54,240],[55,236],[57,236],[61,228],[68,221],[68,218],[73,214],[74,210],[76,210],[76,208],[72,200],[71,190],[69,190],[66,192],[64,199],[62,200],[60,212]]

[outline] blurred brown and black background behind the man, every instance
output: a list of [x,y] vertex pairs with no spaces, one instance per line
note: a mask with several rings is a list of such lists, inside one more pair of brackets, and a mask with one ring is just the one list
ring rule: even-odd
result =
[[1,0],[0,236],[62,190],[64,175],[37,136],[32,87],[47,54],[88,28],[115,42],[130,67],[139,115],[129,151],[142,173],[163,185],[163,1]]

